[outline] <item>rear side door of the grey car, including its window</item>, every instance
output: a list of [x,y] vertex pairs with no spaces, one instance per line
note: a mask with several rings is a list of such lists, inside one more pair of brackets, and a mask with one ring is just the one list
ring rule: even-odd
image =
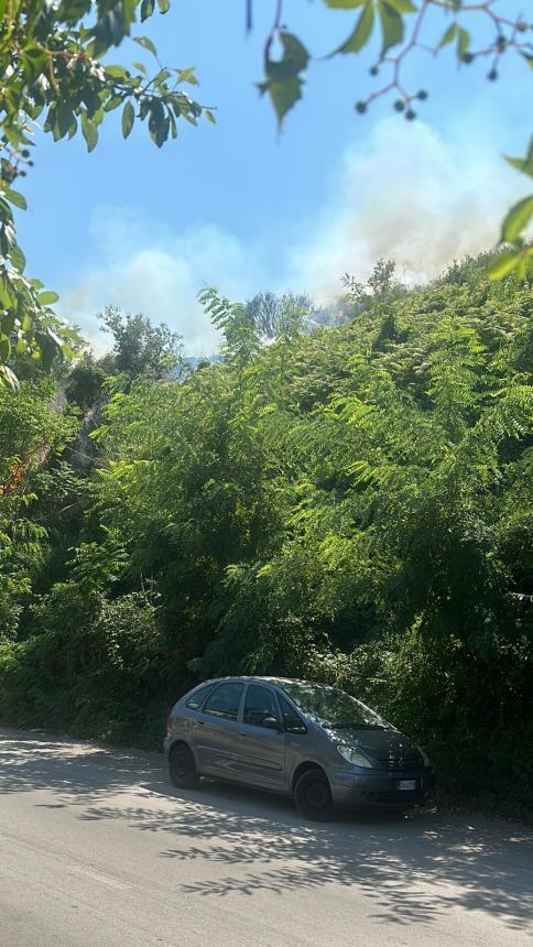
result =
[[209,694],[195,718],[194,750],[202,773],[227,780],[239,780],[237,744],[239,740],[239,707],[244,685],[224,681]]

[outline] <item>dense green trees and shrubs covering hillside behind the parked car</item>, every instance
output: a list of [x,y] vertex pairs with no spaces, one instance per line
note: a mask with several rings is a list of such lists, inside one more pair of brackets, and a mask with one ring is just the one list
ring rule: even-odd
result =
[[1,392],[0,719],[157,745],[207,675],[307,676],[423,741],[444,792],[523,812],[533,287],[486,264],[411,292],[380,264],[344,325],[292,298],[268,345],[207,290],[224,360],[86,360],[77,422]]

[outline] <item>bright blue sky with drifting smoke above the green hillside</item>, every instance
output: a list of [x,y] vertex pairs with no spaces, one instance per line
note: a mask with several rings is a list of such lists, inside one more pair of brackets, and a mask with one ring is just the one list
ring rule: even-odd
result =
[[[90,155],[80,138],[39,137],[30,209],[19,215],[29,272],[61,292],[62,315],[100,349],[95,313],[108,303],[164,319],[189,351],[206,352],[215,337],[195,303],[204,283],[236,298],[271,287],[324,302],[342,272],[362,276],[379,255],[396,259],[406,280],[427,279],[489,246],[504,207],[525,192],[500,157],[527,144],[525,63],[509,56],[488,83],[486,61],[458,69],[449,47],[438,59],[417,53],[407,77],[429,98],[421,120],[406,122],[390,99],[355,113],[377,83],[370,51],[316,61],[279,135],[254,87],[274,2],[254,6],[248,37],[243,0],[175,0],[140,28],[163,62],[196,66],[195,95],[217,107],[215,127],[185,126],[160,151],[141,127],[123,142],[117,111]],[[516,4],[500,7],[509,14]],[[287,28],[317,57],[353,20],[319,0],[285,0]],[[150,65],[128,47],[115,59]]]

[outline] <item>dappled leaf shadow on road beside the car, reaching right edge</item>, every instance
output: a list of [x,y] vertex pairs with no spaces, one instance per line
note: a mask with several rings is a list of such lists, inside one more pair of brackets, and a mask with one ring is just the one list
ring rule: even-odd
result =
[[[291,802],[262,793],[250,802],[249,791],[221,784],[206,784],[194,796],[176,793],[176,799],[175,813],[99,806],[84,818],[126,819],[141,831],[167,832],[172,842],[161,858],[191,864],[191,881],[180,884],[184,894],[283,895],[357,885],[373,899],[374,917],[389,924],[429,922],[456,906],[496,915],[514,929],[531,923],[526,841],[505,829],[502,837],[489,821],[338,813],[328,825],[302,824]],[[203,870],[195,880],[197,862]],[[214,869],[207,880],[206,863]]]

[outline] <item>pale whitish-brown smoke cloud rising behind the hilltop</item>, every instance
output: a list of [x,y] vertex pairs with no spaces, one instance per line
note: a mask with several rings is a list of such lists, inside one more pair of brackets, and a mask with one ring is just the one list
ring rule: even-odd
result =
[[95,313],[115,304],[166,322],[188,352],[208,353],[218,337],[196,302],[203,285],[233,300],[271,289],[323,304],[338,294],[342,273],[363,279],[380,257],[395,260],[406,282],[424,282],[492,246],[521,193],[520,175],[490,148],[450,144],[423,123],[387,119],[341,156],[325,206],[313,208],[309,195],[306,237],[280,240],[275,257],[261,235],[249,246],[214,224],[176,233],[139,208],[98,208],[96,262],[66,287],[63,308],[99,351],[106,338]]

